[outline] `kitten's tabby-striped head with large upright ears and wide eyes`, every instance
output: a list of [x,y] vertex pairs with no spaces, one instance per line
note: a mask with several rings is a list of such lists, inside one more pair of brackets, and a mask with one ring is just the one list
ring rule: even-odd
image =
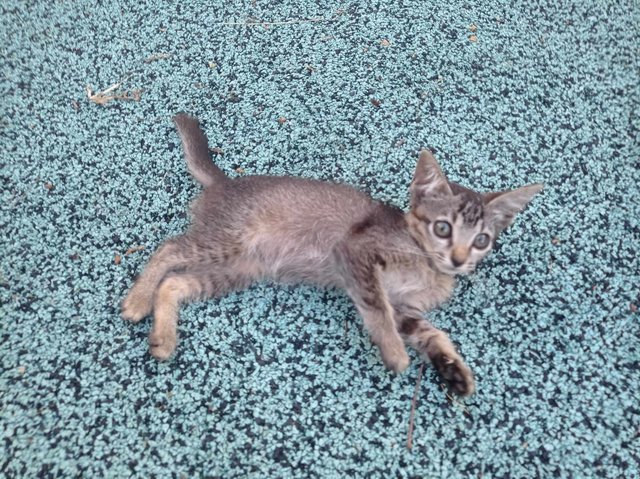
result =
[[468,274],[541,189],[537,183],[517,190],[476,193],[449,183],[433,155],[422,150],[410,188],[409,231],[433,255],[440,271]]

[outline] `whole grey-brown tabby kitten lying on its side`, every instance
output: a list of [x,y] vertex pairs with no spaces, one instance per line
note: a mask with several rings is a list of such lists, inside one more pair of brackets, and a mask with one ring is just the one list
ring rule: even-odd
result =
[[204,191],[189,231],[155,252],[122,303],[122,316],[134,323],[153,312],[153,356],[174,352],[180,303],[266,278],[313,283],[347,292],[389,369],[409,365],[408,343],[453,392],[473,393],[471,370],[422,313],[449,298],[455,275],[473,271],[542,185],[476,193],[449,183],[422,150],[404,213],[346,185],[229,178],[211,161],[198,121],[186,114],[174,121]]

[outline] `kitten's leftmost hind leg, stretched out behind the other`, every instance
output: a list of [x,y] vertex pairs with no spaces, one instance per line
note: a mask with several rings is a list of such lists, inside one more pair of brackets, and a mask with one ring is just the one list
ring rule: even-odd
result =
[[186,243],[185,236],[172,238],[153,254],[122,302],[121,314],[124,319],[137,323],[151,313],[156,288],[168,272],[185,262]]

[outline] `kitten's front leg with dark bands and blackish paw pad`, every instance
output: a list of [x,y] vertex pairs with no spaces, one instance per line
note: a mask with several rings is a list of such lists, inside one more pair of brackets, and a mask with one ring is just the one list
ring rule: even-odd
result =
[[462,396],[473,394],[475,391],[473,373],[446,333],[417,313],[407,315],[396,312],[396,314],[400,334],[433,364],[449,388]]

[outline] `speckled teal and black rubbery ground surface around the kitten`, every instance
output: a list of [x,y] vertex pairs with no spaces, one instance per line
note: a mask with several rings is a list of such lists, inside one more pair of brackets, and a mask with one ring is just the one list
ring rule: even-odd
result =
[[[637,3],[168,3],[0,6],[0,475],[639,477]],[[87,98],[116,83],[139,101]],[[340,292],[189,305],[166,364],[119,318],[198,192],[179,111],[230,175],[406,206],[430,147],[545,183],[430,315],[478,390],[426,368],[412,451],[418,358],[389,374]]]

